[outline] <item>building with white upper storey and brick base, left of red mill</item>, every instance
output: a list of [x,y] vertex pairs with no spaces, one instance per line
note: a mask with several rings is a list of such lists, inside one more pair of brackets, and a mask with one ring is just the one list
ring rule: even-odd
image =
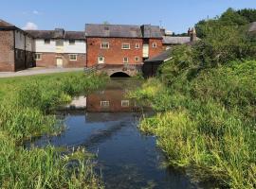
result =
[[35,42],[38,67],[84,67],[86,45],[84,31],[28,30]]

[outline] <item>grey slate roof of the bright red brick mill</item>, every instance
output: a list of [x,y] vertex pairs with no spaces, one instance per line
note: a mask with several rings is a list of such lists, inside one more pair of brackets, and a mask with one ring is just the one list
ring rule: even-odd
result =
[[86,37],[162,38],[159,26],[143,25],[85,25]]

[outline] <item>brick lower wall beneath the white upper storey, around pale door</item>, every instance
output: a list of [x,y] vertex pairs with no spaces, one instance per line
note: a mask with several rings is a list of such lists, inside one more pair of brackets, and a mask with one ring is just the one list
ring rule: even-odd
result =
[[63,58],[63,67],[84,67],[86,54],[77,54],[77,60],[69,60],[69,54],[41,53],[42,60],[36,60],[37,67],[56,67],[57,57]]

